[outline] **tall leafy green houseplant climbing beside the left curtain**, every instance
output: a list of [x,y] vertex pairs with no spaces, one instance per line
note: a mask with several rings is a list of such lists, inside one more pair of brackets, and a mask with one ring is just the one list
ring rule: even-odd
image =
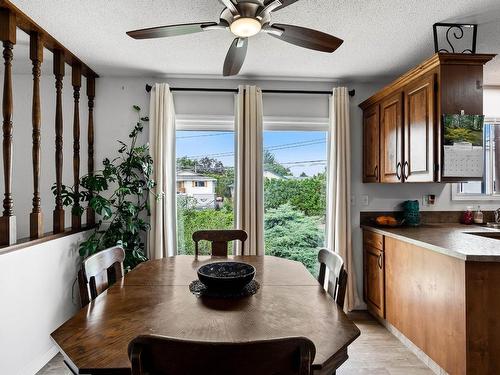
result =
[[[83,241],[80,255],[88,257],[108,247],[120,245],[125,249],[126,270],[147,260],[144,238],[149,230],[147,216],[150,215],[149,195],[155,182],[151,178],[153,159],[149,155],[149,145],[138,145],[138,136],[144,129],[141,109],[133,106],[138,121],[129,134],[129,142],[118,141],[119,156],[105,158],[103,169],[93,171],[80,178],[80,189],[62,186],[65,206],[72,206],[74,215],[83,215],[87,202],[98,216],[92,234]],[[55,187],[52,188],[55,192]]]

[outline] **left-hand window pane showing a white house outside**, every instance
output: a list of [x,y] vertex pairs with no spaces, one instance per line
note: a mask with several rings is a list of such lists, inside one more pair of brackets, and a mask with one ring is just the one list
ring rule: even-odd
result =
[[[234,126],[232,118],[210,124],[181,118],[177,128],[177,251],[194,254],[193,232],[234,227]],[[207,242],[200,253],[210,254]]]

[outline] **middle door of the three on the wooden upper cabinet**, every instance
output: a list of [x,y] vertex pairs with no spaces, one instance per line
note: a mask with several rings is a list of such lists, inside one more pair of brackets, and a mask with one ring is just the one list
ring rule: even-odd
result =
[[380,105],[381,182],[403,182],[403,93],[384,100]]

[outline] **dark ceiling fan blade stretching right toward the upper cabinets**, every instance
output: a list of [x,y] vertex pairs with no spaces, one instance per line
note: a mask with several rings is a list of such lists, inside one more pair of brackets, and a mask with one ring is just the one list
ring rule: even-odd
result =
[[285,42],[295,44],[296,46],[314,49],[316,51],[331,53],[344,43],[342,39],[334,37],[333,35],[305,27],[275,23],[271,28],[279,29],[283,31],[283,33],[281,35],[269,33],[269,35]]

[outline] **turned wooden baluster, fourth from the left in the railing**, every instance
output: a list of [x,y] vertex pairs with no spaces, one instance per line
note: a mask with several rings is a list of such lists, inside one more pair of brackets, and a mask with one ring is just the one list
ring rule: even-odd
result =
[[[73,117],[73,189],[78,195],[80,191],[80,88],[82,87],[82,66],[75,64],[71,71],[73,84],[73,98],[75,100]],[[80,206],[76,202],[74,208]],[[82,226],[81,215],[71,215],[71,228],[78,230]]]

